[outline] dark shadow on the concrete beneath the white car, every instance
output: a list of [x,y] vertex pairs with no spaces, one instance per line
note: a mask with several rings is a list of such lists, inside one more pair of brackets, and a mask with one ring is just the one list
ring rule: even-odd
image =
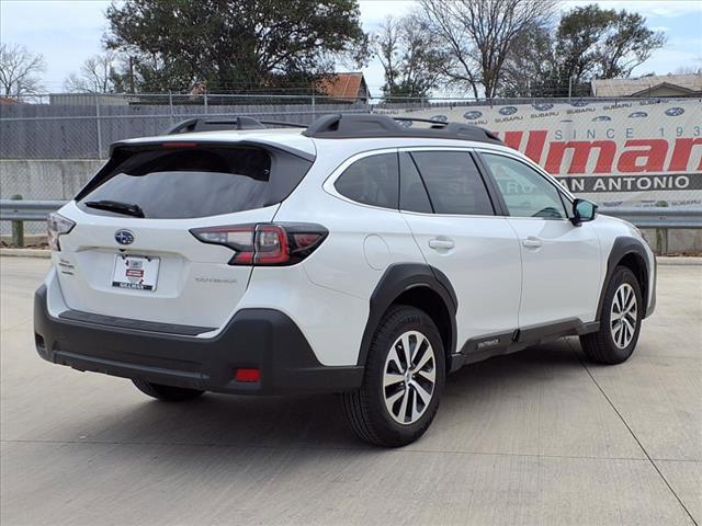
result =
[[[550,382],[563,381],[564,375],[574,373],[582,374],[582,365],[579,355],[565,340],[473,364],[449,376],[439,418],[443,425],[466,425],[465,419],[473,404],[479,403],[488,392],[509,396],[517,388],[524,392],[548,389]],[[339,398],[338,395],[242,397],[206,393],[180,403],[134,398],[134,403],[103,415],[101,431],[86,439],[123,444],[378,450],[355,438],[346,424]],[[461,420],[451,422],[451,419]]]

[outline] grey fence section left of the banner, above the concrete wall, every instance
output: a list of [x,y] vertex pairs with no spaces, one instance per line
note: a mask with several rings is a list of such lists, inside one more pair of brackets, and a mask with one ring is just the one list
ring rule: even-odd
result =
[[322,113],[367,111],[369,105],[363,101],[346,102],[316,95],[33,96],[1,106],[0,159],[104,159],[110,145],[116,140],[159,135],[192,117],[250,115],[309,124]]

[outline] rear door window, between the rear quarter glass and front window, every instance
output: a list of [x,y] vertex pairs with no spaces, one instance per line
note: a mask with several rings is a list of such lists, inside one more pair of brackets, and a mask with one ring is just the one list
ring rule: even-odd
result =
[[435,214],[494,215],[475,162],[463,151],[415,151]]

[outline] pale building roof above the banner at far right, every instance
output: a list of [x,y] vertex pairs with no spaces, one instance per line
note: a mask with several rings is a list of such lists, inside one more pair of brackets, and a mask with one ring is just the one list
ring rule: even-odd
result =
[[702,75],[653,75],[638,79],[599,79],[591,83],[593,96],[642,96],[657,88],[679,89],[680,94],[702,93]]

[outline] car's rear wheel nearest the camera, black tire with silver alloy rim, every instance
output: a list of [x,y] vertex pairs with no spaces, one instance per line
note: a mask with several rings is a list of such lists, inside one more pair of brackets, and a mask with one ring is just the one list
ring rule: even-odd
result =
[[[408,373],[407,347],[414,364]],[[390,307],[371,341],[363,385],[342,393],[347,420],[371,444],[410,444],[437,414],[445,377],[445,353],[431,318],[414,307]]]

